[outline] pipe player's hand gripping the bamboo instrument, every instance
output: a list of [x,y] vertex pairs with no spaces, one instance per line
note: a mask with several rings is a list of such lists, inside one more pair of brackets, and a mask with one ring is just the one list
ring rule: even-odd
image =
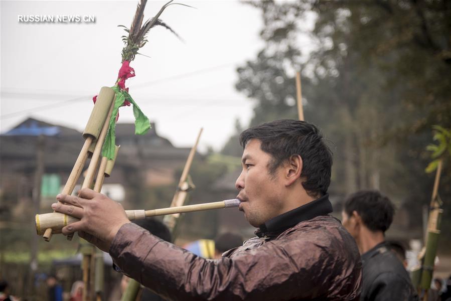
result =
[[105,252],[119,228],[130,222],[119,203],[91,189],[80,190],[78,197],[59,194],[56,199],[65,204],[52,204],[52,209],[80,219],[64,227],[63,234],[78,231],[81,238]]

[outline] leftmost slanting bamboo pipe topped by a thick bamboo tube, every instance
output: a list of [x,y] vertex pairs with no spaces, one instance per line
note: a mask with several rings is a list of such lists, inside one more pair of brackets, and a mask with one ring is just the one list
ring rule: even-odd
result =
[[[88,149],[93,141],[95,141],[100,133],[100,127],[98,124],[103,124],[107,116],[107,111],[105,107],[109,107],[114,99],[114,91],[109,87],[102,87],[97,97],[97,101],[94,104],[94,108],[89,116],[88,123],[86,124],[85,131],[83,132],[83,137],[85,142],[80,150],[77,160],[75,161],[74,167],[67,179],[66,185],[62,191],[63,194],[72,194],[78,178],[80,178],[83,166],[88,158]],[[52,229],[47,229],[43,235],[45,241],[50,241],[52,239]]]

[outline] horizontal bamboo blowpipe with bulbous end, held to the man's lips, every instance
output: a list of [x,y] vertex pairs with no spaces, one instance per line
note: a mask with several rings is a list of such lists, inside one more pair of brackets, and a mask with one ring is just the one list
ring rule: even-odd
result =
[[[176,214],[184,212],[196,212],[211,209],[222,209],[222,208],[235,208],[240,205],[238,199],[225,200],[213,203],[195,204],[188,206],[179,207],[169,207],[154,210],[125,210],[127,218],[132,220],[144,219],[146,217],[166,215],[166,214]],[[52,229],[53,233],[61,233],[61,229],[67,225],[78,222],[79,219],[64,213],[45,213],[36,215],[36,232],[38,235],[43,235],[45,229]]]

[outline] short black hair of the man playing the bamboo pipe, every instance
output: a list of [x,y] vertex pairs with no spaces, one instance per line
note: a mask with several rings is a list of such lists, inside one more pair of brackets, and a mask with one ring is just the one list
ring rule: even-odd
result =
[[271,155],[270,174],[291,156],[299,155],[303,160],[304,189],[314,197],[327,193],[331,183],[332,152],[315,125],[292,119],[266,122],[240,134],[243,148],[250,139],[260,140],[261,150]]

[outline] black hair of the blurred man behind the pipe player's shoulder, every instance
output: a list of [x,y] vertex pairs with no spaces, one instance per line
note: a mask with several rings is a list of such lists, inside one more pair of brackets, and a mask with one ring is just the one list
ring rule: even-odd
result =
[[395,208],[390,199],[374,190],[362,190],[350,195],[345,202],[345,212],[352,216],[356,211],[371,231],[385,232],[393,221]]

